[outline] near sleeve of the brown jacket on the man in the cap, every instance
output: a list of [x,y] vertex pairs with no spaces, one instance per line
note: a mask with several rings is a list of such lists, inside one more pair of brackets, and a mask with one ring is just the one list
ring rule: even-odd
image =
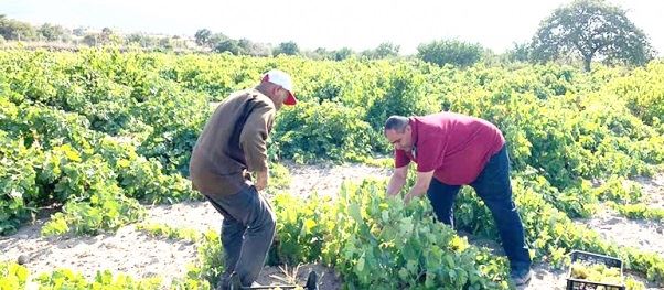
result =
[[251,111],[239,136],[239,144],[245,153],[247,170],[267,170],[267,138],[275,119],[275,108],[267,104],[257,105]]

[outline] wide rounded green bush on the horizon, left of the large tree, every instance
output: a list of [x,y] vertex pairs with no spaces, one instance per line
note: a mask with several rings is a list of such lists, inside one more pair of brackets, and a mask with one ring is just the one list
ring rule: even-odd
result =
[[453,64],[470,66],[482,58],[484,49],[480,44],[457,40],[433,41],[417,46],[417,57],[437,65]]

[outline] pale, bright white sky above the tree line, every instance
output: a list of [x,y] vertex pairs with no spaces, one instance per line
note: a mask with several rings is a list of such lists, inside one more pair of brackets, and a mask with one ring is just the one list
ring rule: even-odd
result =
[[[354,51],[383,42],[417,52],[442,39],[480,43],[496,53],[524,43],[542,20],[570,0],[0,0],[0,14],[32,24],[111,28],[124,33],[190,35],[200,29],[232,39],[300,49]],[[664,1],[609,0],[628,11],[664,55]]]

